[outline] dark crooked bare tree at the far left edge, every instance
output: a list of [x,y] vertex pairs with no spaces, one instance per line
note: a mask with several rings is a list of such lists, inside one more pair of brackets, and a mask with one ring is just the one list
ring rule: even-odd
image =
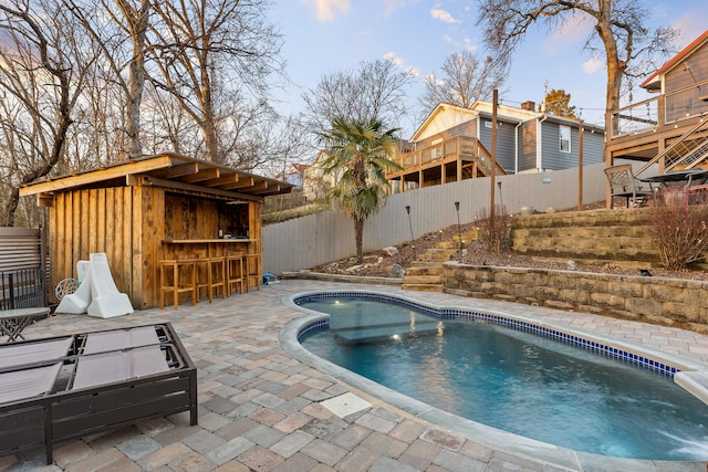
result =
[[[93,56],[64,14],[61,1],[0,3],[0,87],[8,114],[0,115],[2,165],[11,191],[4,221],[13,225],[19,186],[49,175],[61,162],[72,112]],[[88,54],[91,50],[88,49]],[[7,104],[10,102],[10,104]]]

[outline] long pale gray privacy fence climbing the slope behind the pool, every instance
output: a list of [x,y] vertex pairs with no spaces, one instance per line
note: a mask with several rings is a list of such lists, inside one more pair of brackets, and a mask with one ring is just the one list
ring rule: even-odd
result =
[[[583,168],[583,203],[605,199],[604,164]],[[577,206],[577,169],[521,174],[496,178],[496,200],[507,212],[522,207],[544,211]],[[396,245],[431,231],[488,212],[490,179],[477,178],[426,187],[388,197],[386,207],[364,223],[364,252]],[[499,186],[501,183],[501,186]],[[406,206],[410,207],[410,223]],[[263,270],[275,274],[299,271],[356,254],[354,223],[335,211],[311,214],[263,227]]]

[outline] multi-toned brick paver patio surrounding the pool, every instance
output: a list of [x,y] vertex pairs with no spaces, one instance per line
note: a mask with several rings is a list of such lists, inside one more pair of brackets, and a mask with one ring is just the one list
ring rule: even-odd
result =
[[[708,364],[708,337],[674,328],[462,298],[398,287],[282,281],[226,301],[148,310],[112,319],[58,315],[25,331],[29,338],[171,322],[199,368],[199,424],[188,415],[143,421],[60,445],[54,465],[38,451],[0,458],[0,471],[561,471],[543,454],[514,454],[426,423],[383,401],[337,416],[327,400],[361,394],[300,363],[279,344],[281,328],[302,316],[283,297],[312,290],[376,290],[440,304],[477,306],[572,325]],[[334,409],[335,410],[335,409]],[[580,461],[577,462],[581,463]],[[583,462],[584,463],[584,462]],[[617,470],[600,461],[586,470]],[[631,470],[705,471],[706,464],[635,463]]]

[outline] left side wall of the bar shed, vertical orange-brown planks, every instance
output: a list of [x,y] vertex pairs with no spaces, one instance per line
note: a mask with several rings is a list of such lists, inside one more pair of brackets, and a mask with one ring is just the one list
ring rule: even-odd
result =
[[[62,279],[76,277],[76,262],[87,261],[92,252],[105,252],[118,291],[127,293],[136,308],[150,303],[143,286],[154,276],[153,261],[159,256],[154,240],[159,241],[162,233],[152,214],[155,208],[164,208],[155,204],[159,193],[152,187],[58,193],[50,209],[51,283],[55,286]],[[143,209],[145,196],[148,211]]]

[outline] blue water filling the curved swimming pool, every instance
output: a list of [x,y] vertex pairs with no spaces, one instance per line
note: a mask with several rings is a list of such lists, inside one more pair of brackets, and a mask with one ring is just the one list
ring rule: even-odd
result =
[[305,301],[311,353],[457,416],[577,451],[708,459],[708,406],[659,375],[551,338],[392,302]]

